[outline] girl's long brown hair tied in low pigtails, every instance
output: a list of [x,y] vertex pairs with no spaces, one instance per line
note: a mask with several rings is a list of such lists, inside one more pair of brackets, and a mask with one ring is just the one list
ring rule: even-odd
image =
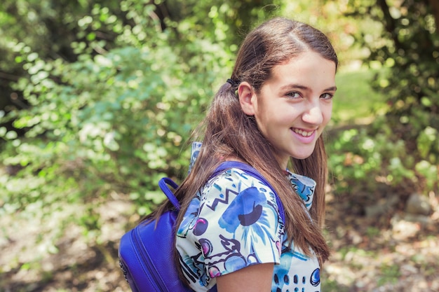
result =
[[[274,18],[254,29],[246,36],[236,58],[231,74],[233,81],[246,81],[259,92],[264,82],[271,78],[273,67],[306,50],[313,50],[338,65],[337,55],[327,36],[302,22]],[[292,187],[283,169],[273,155],[273,147],[259,132],[255,119],[241,110],[236,95],[236,85],[224,83],[210,105],[205,120],[194,132],[195,139],[202,137],[203,146],[196,163],[180,188],[175,192],[182,206],[177,226],[196,191],[222,162],[222,158],[236,158],[255,167],[273,186],[285,209],[285,231],[290,243],[311,256],[309,248],[320,262],[327,260],[329,247],[322,234],[325,213],[325,183],[327,181],[327,158],[323,137],[309,158],[291,159],[292,171],[309,176],[317,182],[311,218],[298,195],[292,195]],[[199,141],[199,140],[198,140]],[[170,207],[165,202],[152,218],[157,218]]]

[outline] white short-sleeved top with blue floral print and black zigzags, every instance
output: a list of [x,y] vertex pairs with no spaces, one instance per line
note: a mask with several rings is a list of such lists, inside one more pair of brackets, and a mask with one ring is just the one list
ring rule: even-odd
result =
[[[296,193],[311,208],[316,182],[292,174]],[[194,291],[209,291],[215,277],[258,263],[275,263],[272,292],[320,291],[320,267],[288,248],[276,197],[262,181],[232,168],[198,190],[177,229],[184,277]]]

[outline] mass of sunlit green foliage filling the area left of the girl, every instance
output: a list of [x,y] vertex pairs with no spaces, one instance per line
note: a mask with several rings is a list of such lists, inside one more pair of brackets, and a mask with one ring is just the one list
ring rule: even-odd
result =
[[[163,201],[158,179],[186,174],[184,145],[213,88],[229,76],[238,48],[212,33],[230,30],[220,13],[176,21],[157,18],[149,1],[81,1],[58,21],[65,4],[51,2],[6,3],[34,11],[45,35],[54,33],[53,22],[66,35],[53,50],[32,46],[42,44],[32,36],[8,39],[25,74],[11,85],[21,105],[0,111],[0,166],[13,169],[0,172],[0,215],[38,218],[45,226],[60,212],[36,243],[46,253],[58,250],[55,242],[70,222],[81,226],[88,244],[100,244],[96,210],[109,195],[126,195],[140,215]],[[229,9],[202,4],[198,8]],[[46,18],[38,19],[38,11]],[[8,17],[1,19],[15,21]]]

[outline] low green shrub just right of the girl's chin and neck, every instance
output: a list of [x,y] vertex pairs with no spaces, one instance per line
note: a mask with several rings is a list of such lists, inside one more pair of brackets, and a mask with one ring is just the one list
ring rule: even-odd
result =
[[336,192],[351,193],[359,187],[373,192],[377,182],[391,186],[418,183],[425,190],[437,188],[436,165],[417,160],[407,152],[407,142],[391,140],[392,134],[383,118],[369,127],[331,132],[328,163]]

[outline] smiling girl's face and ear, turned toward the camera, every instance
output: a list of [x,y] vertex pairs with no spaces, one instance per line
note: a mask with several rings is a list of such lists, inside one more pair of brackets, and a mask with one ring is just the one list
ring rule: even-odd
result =
[[259,94],[251,90],[251,105],[243,110],[255,116],[283,169],[290,157],[304,159],[313,153],[330,121],[335,90],[335,62],[311,51],[273,67]]

